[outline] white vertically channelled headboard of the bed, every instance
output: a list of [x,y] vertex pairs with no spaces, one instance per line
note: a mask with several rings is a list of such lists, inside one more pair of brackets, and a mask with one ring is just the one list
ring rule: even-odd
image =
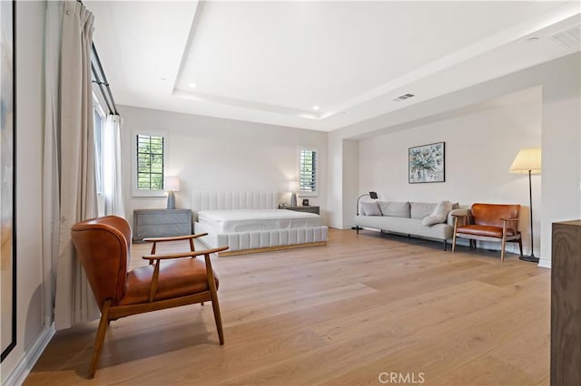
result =
[[192,210],[276,209],[280,193],[265,190],[194,190]]

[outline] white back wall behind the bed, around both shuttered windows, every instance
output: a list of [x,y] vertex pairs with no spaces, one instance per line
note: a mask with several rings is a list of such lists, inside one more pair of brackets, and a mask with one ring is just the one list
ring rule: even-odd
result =
[[[326,217],[327,133],[119,106],[123,118],[123,171],[127,216],[133,209],[165,207],[166,198],[131,195],[134,128],[167,131],[167,175],[179,176],[176,207],[191,207],[198,189],[269,189],[284,192],[298,178],[299,147],[319,150],[319,195],[305,197]],[[290,202],[290,194],[282,197]],[[300,199],[299,199],[300,203]]]

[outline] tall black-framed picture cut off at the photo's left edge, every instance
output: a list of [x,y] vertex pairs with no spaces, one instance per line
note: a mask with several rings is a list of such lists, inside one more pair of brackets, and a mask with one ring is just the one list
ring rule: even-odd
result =
[[15,2],[0,1],[0,362],[16,345]]

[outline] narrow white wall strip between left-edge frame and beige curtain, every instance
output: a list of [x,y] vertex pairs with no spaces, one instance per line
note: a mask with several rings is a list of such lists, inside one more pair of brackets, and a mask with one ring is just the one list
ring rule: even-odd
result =
[[17,2],[16,18],[17,327],[15,349],[0,365],[3,384],[47,328],[41,238],[44,2]]

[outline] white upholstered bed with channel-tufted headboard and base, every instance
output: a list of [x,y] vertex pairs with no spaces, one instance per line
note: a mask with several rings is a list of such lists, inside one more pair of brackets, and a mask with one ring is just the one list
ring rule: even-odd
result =
[[312,213],[277,209],[278,192],[194,191],[194,232],[220,256],[327,244],[327,227]]

